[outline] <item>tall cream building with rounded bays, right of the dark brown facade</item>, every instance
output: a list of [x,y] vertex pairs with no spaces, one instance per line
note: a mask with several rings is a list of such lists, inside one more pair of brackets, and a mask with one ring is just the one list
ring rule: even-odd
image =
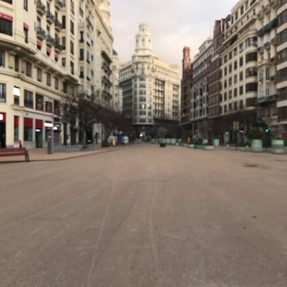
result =
[[237,141],[238,128],[256,123],[257,46],[256,1],[238,1],[225,19],[222,63],[222,132],[225,143]]

